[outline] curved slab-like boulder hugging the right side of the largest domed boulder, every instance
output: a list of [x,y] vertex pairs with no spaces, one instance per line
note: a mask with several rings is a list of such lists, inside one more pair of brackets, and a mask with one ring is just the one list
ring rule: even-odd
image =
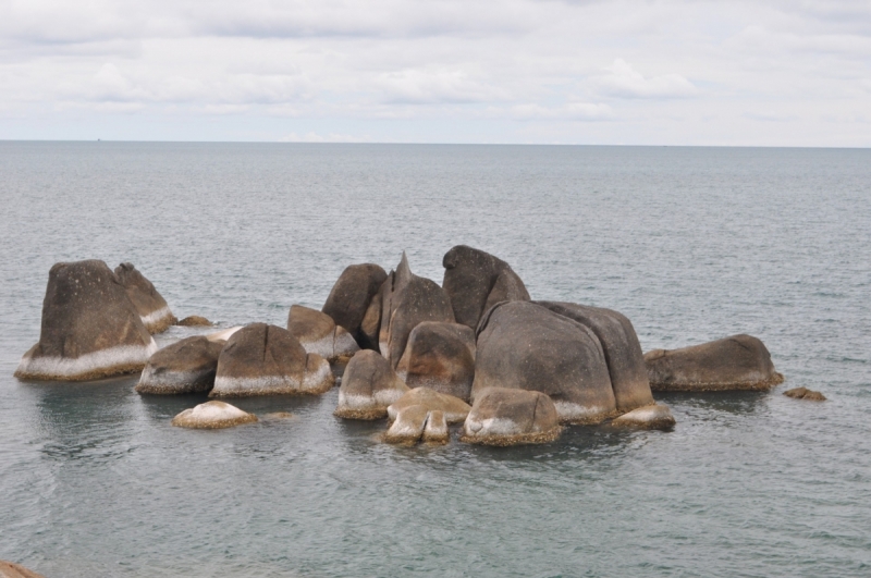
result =
[[536,303],[586,325],[599,337],[619,411],[631,411],[653,403],[645,354],[635,328],[626,316],[611,309],[574,303]]

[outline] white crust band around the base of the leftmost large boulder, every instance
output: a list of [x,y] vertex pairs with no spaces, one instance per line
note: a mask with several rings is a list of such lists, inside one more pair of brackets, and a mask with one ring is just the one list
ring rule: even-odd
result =
[[121,373],[142,371],[148,358],[157,352],[157,343],[148,346],[119,345],[78,357],[30,357],[30,352],[21,358],[15,377],[29,380],[89,381]]

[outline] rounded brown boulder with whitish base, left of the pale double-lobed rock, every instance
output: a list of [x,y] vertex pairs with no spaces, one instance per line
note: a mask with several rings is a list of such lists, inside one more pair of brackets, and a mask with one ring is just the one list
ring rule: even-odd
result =
[[381,419],[387,417],[388,406],[408,391],[381,354],[363,349],[354,354],[345,368],[333,415],[345,419]]

